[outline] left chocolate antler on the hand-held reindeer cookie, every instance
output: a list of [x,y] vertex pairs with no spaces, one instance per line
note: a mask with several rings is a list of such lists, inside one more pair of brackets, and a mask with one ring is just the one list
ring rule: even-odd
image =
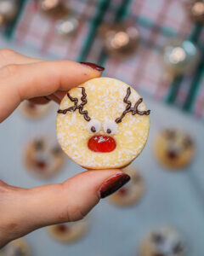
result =
[[87,110],[83,110],[83,106],[87,104],[87,94],[85,92],[85,88],[82,88],[82,97],[81,97],[81,101],[82,103],[80,105],[77,105],[78,103],[78,99],[77,98],[72,98],[72,96],[69,94],[69,92],[67,93],[68,98],[71,100],[71,102],[74,102],[74,106],[70,107],[70,108],[66,108],[66,109],[59,109],[58,113],[67,113],[67,112],[74,112],[75,110],[79,110],[79,113],[81,113],[84,117],[84,119],[86,121],[90,121],[90,117],[88,116],[88,111]]

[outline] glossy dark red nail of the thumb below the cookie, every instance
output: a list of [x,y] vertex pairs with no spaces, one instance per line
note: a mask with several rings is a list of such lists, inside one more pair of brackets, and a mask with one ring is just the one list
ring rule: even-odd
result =
[[129,175],[126,173],[119,173],[114,175],[113,177],[106,180],[100,186],[98,190],[98,197],[105,198],[116,192],[116,190],[121,189],[124,184],[126,184],[130,180]]

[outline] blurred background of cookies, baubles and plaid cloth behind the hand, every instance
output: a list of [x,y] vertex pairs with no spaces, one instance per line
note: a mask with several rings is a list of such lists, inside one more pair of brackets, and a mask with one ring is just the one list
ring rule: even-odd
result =
[[[1,49],[97,63],[151,109],[148,143],[125,170],[132,183],[84,221],[37,230],[3,255],[203,256],[203,25],[199,0],[0,0]],[[0,125],[4,182],[30,188],[82,172],[60,151],[56,110],[23,102]]]

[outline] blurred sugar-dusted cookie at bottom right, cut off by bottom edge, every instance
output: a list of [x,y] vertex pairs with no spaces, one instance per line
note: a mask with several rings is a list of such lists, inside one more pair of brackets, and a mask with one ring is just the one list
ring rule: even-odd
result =
[[184,256],[184,253],[184,242],[171,227],[153,230],[139,248],[139,256]]

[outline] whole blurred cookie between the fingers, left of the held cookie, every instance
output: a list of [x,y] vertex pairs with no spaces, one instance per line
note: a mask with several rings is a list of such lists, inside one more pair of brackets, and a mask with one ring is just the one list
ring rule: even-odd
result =
[[31,173],[37,177],[47,178],[57,174],[65,163],[65,154],[58,145],[41,137],[27,144],[25,164]]

